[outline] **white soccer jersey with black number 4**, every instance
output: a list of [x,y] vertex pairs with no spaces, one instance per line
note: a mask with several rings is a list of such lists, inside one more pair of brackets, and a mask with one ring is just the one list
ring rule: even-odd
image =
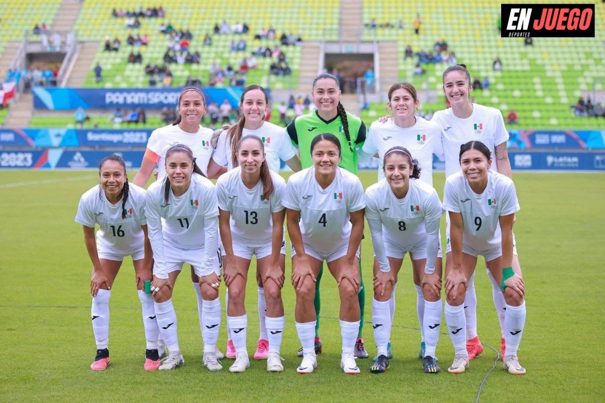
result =
[[349,213],[365,207],[364,188],[357,176],[337,167],[332,184],[321,189],[315,167],[310,167],[290,176],[282,203],[300,211],[302,242],[329,254],[348,245],[352,228]]

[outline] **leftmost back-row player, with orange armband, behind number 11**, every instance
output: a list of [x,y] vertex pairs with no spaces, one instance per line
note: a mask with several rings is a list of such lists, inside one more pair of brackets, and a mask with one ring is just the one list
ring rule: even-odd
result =
[[[174,144],[185,144],[192,150],[197,166],[202,172],[206,172],[211,160],[213,148],[211,145],[212,130],[201,126],[201,118],[206,114],[206,98],[200,89],[187,87],[178,95],[178,117],[174,123],[155,129],[147,142],[147,150],[137,175],[132,182],[144,187],[157,166],[157,179],[163,181],[166,177],[165,155],[166,151]],[[195,271],[191,268],[191,281],[197,296],[197,310],[200,318],[200,329],[203,333],[203,301],[200,294],[200,286]],[[160,344],[163,344],[160,336]],[[218,351],[219,359],[224,358],[223,353]]]

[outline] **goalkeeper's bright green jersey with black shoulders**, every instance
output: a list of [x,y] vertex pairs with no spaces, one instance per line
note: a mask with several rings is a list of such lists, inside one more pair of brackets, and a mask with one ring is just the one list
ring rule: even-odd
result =
[[318,134],[330,133],[335,135],[341,142],[342,160],[339,166],[357,175],[357,150],[355,147],[361,147],[364,144],[365,124],[360,118],[348,112],[347,121],[353,151],[348,147],[340,115],[336,115],[332,120],[323,120],[317,111],[313,111],[297,117],[288,124],[286,129],[292,142],[298,145],[303,169],[313,166],[313,161],[311,160],[311,141],[313,138]]

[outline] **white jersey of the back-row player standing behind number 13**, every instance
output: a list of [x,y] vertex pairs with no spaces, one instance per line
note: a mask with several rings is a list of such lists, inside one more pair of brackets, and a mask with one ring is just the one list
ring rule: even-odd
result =
[[[263,140],[267,164],[269,164],[269,169],[273,172],[280,172],[280,158],[287,161],[296,155],[296,147],[292,144],[292,140],[290,140],[290,136],[287,135],[284,127],[266,121],[259,129],[243,129],[241,134],[242,137],[255,135]],[[217,150],[212,155],[212,159],[220,166],[226,165],[227,170],[233,169],[231,144],[228,141],[226,130],[218,138]]]

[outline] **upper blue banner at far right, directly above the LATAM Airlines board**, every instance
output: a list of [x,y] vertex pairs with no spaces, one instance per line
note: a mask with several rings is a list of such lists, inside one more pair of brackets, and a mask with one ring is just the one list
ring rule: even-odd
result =
[[511,130],[508,147],[516,149],[602,149],[605,131],[601,130]]

